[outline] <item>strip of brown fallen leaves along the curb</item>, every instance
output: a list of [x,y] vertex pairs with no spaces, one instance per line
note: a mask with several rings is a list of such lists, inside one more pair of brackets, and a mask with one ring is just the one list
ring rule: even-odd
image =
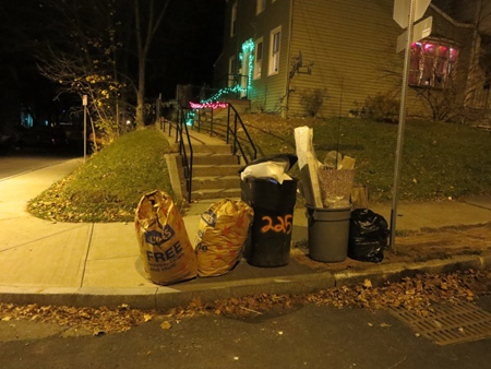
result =
[[[486,288],[483,288],[486,286]],[[475,301],[477,293],[491,293],[491,271],[464,271],[451,274],[420,274],[405,277],[398,283],[374,287],[370,279],[348,287],[340,286],[303,295],[259,294],[203,303],[199,298],[187,307],[166,311],[133,309],[128,305],[116,308],[76,308],[67,306],[38,306],[0,303],[0,321],[25,319],[51,322],[62,326],[85,329],[96,336],[121,333],[132,326],[161,321],[160,328],[172,329],[172,323],[200,316],[247,317],[270,310],[286,310],[301,305],[367,308],[371,310],[405,307],[422,317],[440,302]],[[372,323],[369,323],[370,326]]]

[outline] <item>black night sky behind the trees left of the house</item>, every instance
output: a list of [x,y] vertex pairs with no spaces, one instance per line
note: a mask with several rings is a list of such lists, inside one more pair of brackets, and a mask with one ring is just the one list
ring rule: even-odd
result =
[[[39,75],[36,67],[39,49],[49,43],[50,37],[58,37],[57,32],[64,27],[60,19],[47,15],[44,2],[0,0],[1,126],[19,120],[17,107],[21,105],[41,111],[64,109],[76,104],[75,96],[60,96],[53,100],[56,85]],[[161,5],[164,0],[156,2]],[[147,59],[147,98],[161,93],[164,99],[171,99],[177,84],[212,84],[213,63],[221,49],[224,8],[224,0],[171,0]],[[132,20],[131,14],[128,16]],[[129,44],[135,43],[134,32],[131,34],[130,31],[128,39]],[[130,58],[129,70],[136,80],[136,58]]]

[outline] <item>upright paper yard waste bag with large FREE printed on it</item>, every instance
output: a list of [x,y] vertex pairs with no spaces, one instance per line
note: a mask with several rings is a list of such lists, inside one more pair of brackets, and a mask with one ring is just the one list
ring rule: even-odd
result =
[[167,193],[154,191],[143,195],[135,226],[140,257],[149,281],[170,285],[196,276],[196,257],[184,222]]

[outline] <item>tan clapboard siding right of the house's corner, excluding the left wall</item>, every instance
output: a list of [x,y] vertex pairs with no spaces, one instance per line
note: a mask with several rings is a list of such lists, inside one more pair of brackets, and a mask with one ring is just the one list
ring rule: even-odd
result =
[[[393,0],[294,1],[291,56],[301,50],[303,64],[313,62],[313,67],[311,74],[296,74],[291,79],[289,115],[306,114],[301,96],[314,88],[326,93],[320,111],[324,116],[337,115],[340,105],[342,115],[348,116],[357,103],[379,93],[398,96],[404,52],[396,53],[395,48],[403,29],[392,19],[393,4]],[[466,38],[462,29],[441,15],[431,15],[434,29],[442,29],[445,38],[465,45],[467,28]],[[464,52],[460,55],[465,59]],[[467,71],[459,72],[465,80]],[[414,91],[409,92],[408,111],[415,116],[429,115]]]

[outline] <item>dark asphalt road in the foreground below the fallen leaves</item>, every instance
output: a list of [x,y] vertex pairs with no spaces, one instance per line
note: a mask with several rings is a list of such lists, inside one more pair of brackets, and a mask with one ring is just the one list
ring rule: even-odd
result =
[[[491,297],[479,305],[490,311]],[[390,313],[364,309],[304,306],[185,319],[169,330],[151,321],[123,334],[79,333],[0,322],[0,368],[470,369],[491,362],[491,338],[438,346]]]

